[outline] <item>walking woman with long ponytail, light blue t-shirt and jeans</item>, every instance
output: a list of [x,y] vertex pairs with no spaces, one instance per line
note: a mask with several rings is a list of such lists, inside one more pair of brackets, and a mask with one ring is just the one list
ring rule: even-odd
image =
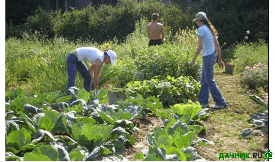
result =
[[209,90],[215,101],[215,106],[213,109],[220,109],[227,107],[227,103],[224,100],[219,88],[214,81],[214,65],[216,63],[216,51],[218,53],[218,64],[220,68],[223,68],[223,61],[221,58],[220,44],[217,40],[218,32],[212,23],[207,19],[204,12],[199,12],[196,14],[194,19],[196,24],[199,26],[197,36],[198,36],[198,48],[196,54],[194,55],[189,66],[192,66],[199,53],[202,50],[202,73],[201,73],[201,90],[198,95],[198,100],[203,108],[209,107],[208,98]]

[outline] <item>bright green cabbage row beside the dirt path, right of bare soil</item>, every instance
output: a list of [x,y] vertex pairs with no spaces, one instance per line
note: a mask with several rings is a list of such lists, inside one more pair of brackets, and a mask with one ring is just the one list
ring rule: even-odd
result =
[[[202,125],[200,129],[196,123],[189,122],[194,119],[201,110],[199,103],[175,104],[172,111],[175,114],[166,112],[158,113],[165,123],[165,128],[153,128],[153,135],[147,135],[149,151],[135,155],[143,160],[195,160],[200,159],[196,152],[184,152],[182,150],[193,145],[197,134],[205,130]],[[199,121],[196,121],[199,123]],[[186,124],[188,123],[188,124]],[[204,128],[203,128],[204,127]]]

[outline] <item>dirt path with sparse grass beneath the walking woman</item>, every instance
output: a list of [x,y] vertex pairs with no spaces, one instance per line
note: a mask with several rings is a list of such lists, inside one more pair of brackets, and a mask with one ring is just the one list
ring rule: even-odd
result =
[[[214,78],[229,108],[210,111],[209,119],[204,122],[207,127],[205,138],[214,141],[215,144],[214,146],[198,147],[198,153],[206,160],[217,160],[221,152],[253,153],[260,150],[264,151],[267,136],[252,133],[250,137],[243,139],[240,135],[242,129],[252,127],[249,122],[251,115],[263,109],[252,102],[248,98],[247,90],[240,86],[240,74],[227,75],[217,72]],[[211,97],[209,103],[210,105],[213,104]],[[211,129],[215,131],[213,132]]]

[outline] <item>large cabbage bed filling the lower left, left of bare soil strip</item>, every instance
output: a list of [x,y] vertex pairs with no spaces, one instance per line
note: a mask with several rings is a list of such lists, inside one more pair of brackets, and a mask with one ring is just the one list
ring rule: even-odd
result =
[[156,98],[107,105],[104,89],[70,91],[30,98],[20,88],[6,92],[6,160],[122,160],[138,130],[131,120],[162,107]]

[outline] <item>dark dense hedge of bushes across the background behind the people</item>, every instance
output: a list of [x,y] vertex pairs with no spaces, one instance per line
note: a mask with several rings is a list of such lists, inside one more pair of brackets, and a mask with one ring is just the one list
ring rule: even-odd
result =
[[268,30],[266,25],[268,23],[268,1],[207,0],[192,3],[175,1],[175,4],[166,4],[156,0],[144,2],[119,0],[115,6],[89,6],[81,10],[72,8],[71,11],[64,13],[61,10],[49,12],[39,9],[36,14],[24,18],[22,22],[26,20],[25,23],[14,26],[6,20],[6,38],[20,37],[25,30],[31,32],[38,30],[49,37],[63,36],[71,40],[80,37],[93,39],[96,42],[103,42],[114,37],[121,40],[134,31],[134,24],[137,20],[141,17],[150,20],[153,12],[158,12],[161,23],[167,29],[172,29],[172,33],[175,34],[179,28],[194,26],[192,21],[194,15],[198,11],[204,11],[217,28],[221,44],[226,42],[227,45],[231,45],[241,42],[247,30],[251,32],[249,41],[258,39],[268,41],[266,32]]

